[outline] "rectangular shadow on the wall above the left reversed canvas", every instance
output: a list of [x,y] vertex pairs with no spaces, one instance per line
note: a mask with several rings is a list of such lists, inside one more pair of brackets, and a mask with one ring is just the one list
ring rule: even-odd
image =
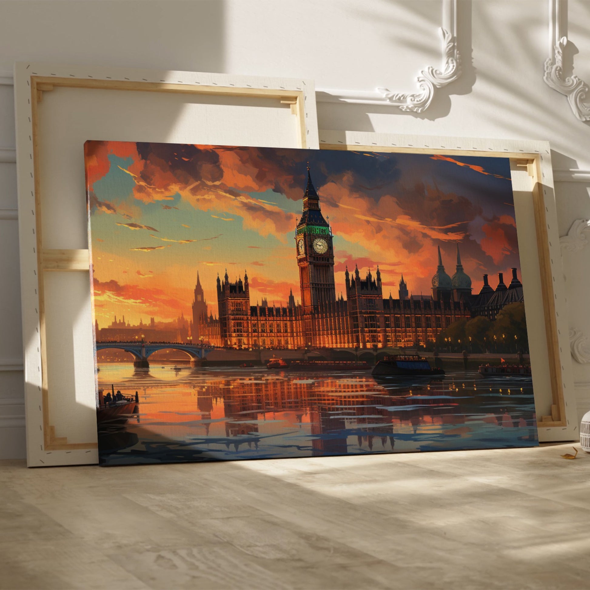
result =
[[[225,70],[225,2],[31,4],[26,8],[20,2],[2,5],[0,69],[8,70],[14,61],[31,60]],[[67,41],[56,42],[56,34]]]

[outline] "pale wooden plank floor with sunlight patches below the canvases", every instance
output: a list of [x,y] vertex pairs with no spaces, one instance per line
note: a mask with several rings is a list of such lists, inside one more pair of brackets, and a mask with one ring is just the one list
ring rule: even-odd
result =
[[590,588],[590,455],[571,446],[0,461],[0,588]]

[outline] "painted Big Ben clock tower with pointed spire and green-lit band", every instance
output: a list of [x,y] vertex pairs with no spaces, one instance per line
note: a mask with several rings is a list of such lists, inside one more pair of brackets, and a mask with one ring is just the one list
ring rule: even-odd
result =
[[303,312],[336,300],[332,232],[320,210],[320,199],[312,183],[307,163],[307,186],[303,195],[303,215],[295,235],[301,303]]

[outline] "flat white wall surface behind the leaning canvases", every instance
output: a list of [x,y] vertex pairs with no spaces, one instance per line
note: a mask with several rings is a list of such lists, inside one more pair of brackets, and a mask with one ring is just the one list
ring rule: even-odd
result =
[[[418,71],[440,62],[440,24],[439,0],[0,2],[0,71],[15,60],[58,61],[411,91]],[[590,2],[569,1],[568,34],[575,73],[590,81]],[[458,38],[463,75],[425,113],[320,103],[320,129],[543,139],[554,169],[590,171],[590,124],[543,82],[547,1],[460,0]],[[14,148],[12,109],[12,87],[0,86],[0,456],[23,457],[15,166],[2,161],[11,159],[2,148]],[[556,183],[560,235],[590,218],[589,188]],[[590,247],[565,255],[570,324],[590,336],[588,263]],[[590,364],[574,362],[574,372],[581,413],[590,409]]]

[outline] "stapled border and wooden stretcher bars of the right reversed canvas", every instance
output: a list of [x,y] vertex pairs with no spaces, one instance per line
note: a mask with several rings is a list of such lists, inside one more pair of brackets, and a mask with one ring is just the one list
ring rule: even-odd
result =
[[539,250],[542,273],[544,317],[536,318],[536,321],[545,323],[553,397],[551,416],[537,416],[539,441],[577,440],[578,416],[569,354],[568,312],[549,142],[329,130],[320,130],[319,133],[320,149],[487,155],[521,160],[520,165],[527,166],[533,179],[530,195],[535,205],[534,239]]

